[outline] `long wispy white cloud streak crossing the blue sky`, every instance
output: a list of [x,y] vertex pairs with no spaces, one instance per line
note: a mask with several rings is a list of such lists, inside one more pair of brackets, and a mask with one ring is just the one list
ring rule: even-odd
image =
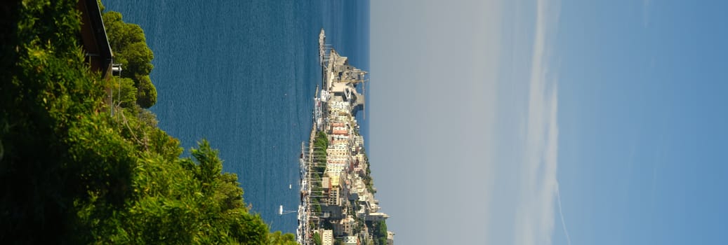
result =
[[558,201],[558,90],[548,58],[560,3],[539,0],[537,4],[515,244],[551,244]]

